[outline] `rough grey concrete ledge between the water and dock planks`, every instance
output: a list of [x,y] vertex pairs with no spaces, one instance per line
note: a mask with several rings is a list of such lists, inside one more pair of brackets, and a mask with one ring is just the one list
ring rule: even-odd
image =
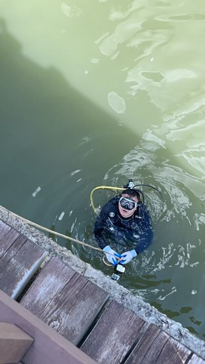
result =
[[173,338],[190,348],[198,356],[205,359],[205,343],[196,338],[180,323],[169,319],[160,313],[155,307],[143,301],[141,297],[134,296],[129,290],[117,284],[110,277],[84,263],[75,257],[69,250],[49,239],[42,232],[30,227],[27,223],[17,217],[13,217],[9,211],[0,208],[0,218],[13,228],[27,236],[34,243],[48,251],[50,256],[58,257],[72,269],[86,276],[89,281],[104,289],[119,303],[134,311],[138,316],[148,323],[153,323],[166,331]]

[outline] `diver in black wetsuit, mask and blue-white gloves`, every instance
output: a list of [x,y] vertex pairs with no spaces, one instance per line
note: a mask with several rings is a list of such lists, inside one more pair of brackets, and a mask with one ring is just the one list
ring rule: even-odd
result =
[[114,266],[117,259],[109,253],[121,258],[121,264],[126,264],[152,242],[151,219],[144,205],[144,195],[142,193],[141,202],[139,192],[142,193],[135,188],[124,189],[121,195],[109,200],[102,207],[95,220],[94,236],[99,247],[105,251],[107,260]]

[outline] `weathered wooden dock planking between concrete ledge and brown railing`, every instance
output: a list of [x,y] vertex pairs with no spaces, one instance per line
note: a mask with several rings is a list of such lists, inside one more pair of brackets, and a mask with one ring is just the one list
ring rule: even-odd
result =
[[[45,258],[47,263],[38,270]],[[0,289],[95,362],[205,364],[158,326],[145,322],[60,259],[47,256],[2,220]],[[29,363],[31,348],[22,363]]]

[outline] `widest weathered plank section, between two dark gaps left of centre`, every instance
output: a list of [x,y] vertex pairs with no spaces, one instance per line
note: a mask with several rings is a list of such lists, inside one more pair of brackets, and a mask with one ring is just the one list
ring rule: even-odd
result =
[[52,258],[20,303],[76,345],[108,298],[107,292]]

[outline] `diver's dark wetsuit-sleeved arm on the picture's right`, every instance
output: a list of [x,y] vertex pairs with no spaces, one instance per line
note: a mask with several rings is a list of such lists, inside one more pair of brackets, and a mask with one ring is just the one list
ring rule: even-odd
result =
[[147,211],[144,212],[144,217],[140,222],[140,225],[141,231],[138,233],[139,238],[137,239],[137,244],[134,246],[137,254],[140,254],[142,251],[146,250],[148,246],[151,245],[153,239],[151,219]]

